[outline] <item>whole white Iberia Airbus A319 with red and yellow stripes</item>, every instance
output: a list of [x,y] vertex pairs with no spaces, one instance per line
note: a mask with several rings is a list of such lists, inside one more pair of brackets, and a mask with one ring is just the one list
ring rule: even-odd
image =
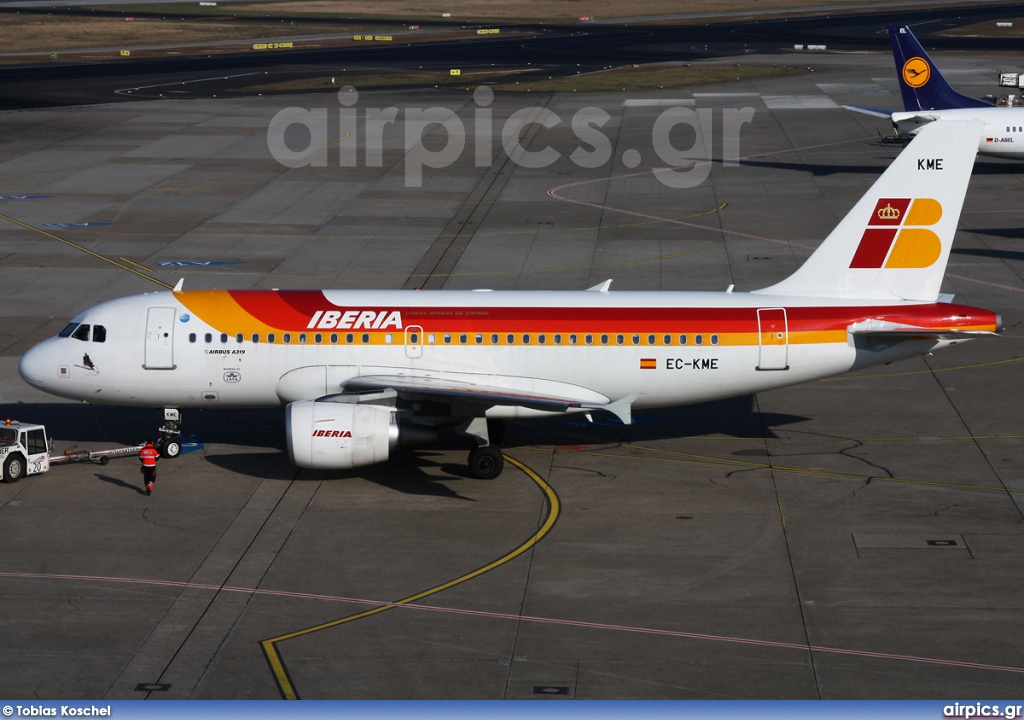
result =
[[[753,292],[185,291],[122,298],[29,350],[89,403],[285,407],[300,467],[383,462],[451,426],[497,476],[487,421],[759,392],[999,332],[939,295],[982,123],[931,123],[793,276]],[[731,288],[730,288],[731,290]],[[494,427],[494,425],[492,425]],[[171,423],[176,430],[176,422]],[[497,438],[496,438],[497,439]],[[176,455],[172,435],[164,452]]]

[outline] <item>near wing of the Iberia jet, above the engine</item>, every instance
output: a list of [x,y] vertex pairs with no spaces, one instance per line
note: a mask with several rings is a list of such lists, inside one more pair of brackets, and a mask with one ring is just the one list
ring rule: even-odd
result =
[[[500,381],[501,378],[495,378]],[[567,385],[564,395],[560,393],[536,392],[511,386],[483,385],[476,382],[452,378],[411,377],[407,375],[364,375],[343,383],[346,392],[392,389],[406,395],[414,395],[440,400],[464,400],[484,407],[497,405],[518,406],[549,413],[564,413],[569,410],[606,410],[616,415],[625,424],[632,422],[630,407],[637,394],[624,397],[615,403],[603,395],[583,391],[573,393],[573,386]],[[589,396],[585,396],[589,395]]]

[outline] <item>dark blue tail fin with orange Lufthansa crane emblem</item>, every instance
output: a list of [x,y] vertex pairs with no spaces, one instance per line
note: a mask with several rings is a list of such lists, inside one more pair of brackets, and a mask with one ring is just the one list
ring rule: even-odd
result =
[[991,108],[988,102],[962,95],[953,90],[925,48],[906,26],[889,28],[889,42],[896,60],[896,78],[903,93],[903,110],[950,110],[952,108]]

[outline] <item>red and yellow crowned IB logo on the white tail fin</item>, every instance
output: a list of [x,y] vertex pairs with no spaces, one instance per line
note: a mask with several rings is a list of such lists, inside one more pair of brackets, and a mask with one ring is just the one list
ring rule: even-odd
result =
[[942,218],[931,198],[882,198],[874,206],[850,267],[929,267],[942,254],[939,237],[928,226]]

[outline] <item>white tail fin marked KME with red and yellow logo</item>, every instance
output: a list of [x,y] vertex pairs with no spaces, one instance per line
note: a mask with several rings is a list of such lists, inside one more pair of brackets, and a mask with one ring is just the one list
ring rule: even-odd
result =
[[934,302],[983,127],[923,127],[799,270],[755,292]]

